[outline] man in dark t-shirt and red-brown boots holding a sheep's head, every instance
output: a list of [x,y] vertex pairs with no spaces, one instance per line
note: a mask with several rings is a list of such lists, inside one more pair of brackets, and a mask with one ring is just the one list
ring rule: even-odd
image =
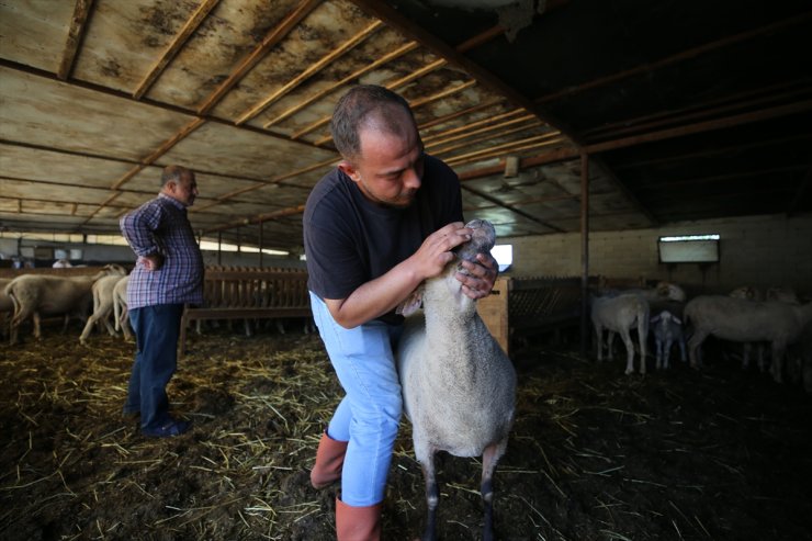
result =
[[[311,482],[341,480],[339,541],[379,540],[402,409],[395,308],[442,271],[471,230],[456,174],[424,153],[403,98],[354,87],[330,128],[342,161],[307,199],[304,245],[313,315],[346,395],[322,435]],[[472,298],[487,295],[497,274],[493,257],[478,261],[463,261],[471,274],[456,274]]]

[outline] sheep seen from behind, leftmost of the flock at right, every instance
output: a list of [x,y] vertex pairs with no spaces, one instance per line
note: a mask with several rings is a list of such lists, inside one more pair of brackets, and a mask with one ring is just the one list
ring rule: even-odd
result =
[[607,348],[612,359],[614,333],[623,339],[627,351],[625,373],[634,372],[634,343],[629,329],[638,327],[640,340],[640,373],[645,374],[645,342],[649,339],[649,303],[636,293],[601,296],[591,300],[591,319],[598,337],[598,362],[604,360],[604,329],[609,330]]

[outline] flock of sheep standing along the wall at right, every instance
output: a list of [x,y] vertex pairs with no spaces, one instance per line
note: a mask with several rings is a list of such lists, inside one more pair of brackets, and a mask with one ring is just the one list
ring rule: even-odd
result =
[[[683,361],[691,368],[701,364],[700,346],[709,337],[742,345],[742,367],[748,368],[752,348],[758,348],[759,369],[767,370],[764,346],[769,345],[769,371],[776,382],[789,375],[803,379],[812,393],[812,302],[801,304],[794,292],[770,288],[766,292],[752,286],[733,290],[728,295],[698,295],[686,302],[685,291],[661,282],[654,289],[606,291],[590,298],[591,320],[597,337],[598,361],[604,349],[611,359],[614,335],[627,348],[625,373],[634,372],[635,346],[631,330],[636,329],[640,373],[646,369],[650,333],[654,336],[657,369],[668,368],[669,353],[678,345]],[[609,331],[604,343],[604,330]],[[789,360],[785,367],[785,360]]]

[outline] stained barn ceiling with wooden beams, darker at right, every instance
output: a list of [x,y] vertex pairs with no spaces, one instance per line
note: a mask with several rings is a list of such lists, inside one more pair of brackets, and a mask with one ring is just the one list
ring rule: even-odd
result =
[[[307,194],[339,159],[332,106],[360,82],[410,102],[466,217],[506,243],[752,216],[809,230],[808,8],[3,2],[0,251],[117,235],[178,164],[198,172],[202,238],[296,258]],[[45,240],[14,246],[26,232]]]

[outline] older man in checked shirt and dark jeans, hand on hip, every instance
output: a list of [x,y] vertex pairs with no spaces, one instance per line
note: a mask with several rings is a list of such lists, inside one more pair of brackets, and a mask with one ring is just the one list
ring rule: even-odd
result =
[[203,257],[187,217],[194,203],[194,172],[168,166],[158,196],[121,218],[121,230],[137,256],[127,288],[136,353],[124,417],[140,415],[144,436],[179,436],[191,425],[169,415],[167,384],[178,361],[183,304],[203,303]]

